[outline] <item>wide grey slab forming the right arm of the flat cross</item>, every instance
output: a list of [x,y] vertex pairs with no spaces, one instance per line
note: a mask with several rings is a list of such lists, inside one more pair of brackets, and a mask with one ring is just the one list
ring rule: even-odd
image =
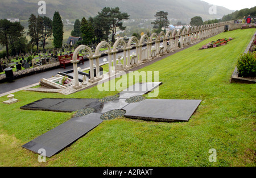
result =
[[125,117],[149,121],[188,121],[201,100],[143,100],[122,109]]

